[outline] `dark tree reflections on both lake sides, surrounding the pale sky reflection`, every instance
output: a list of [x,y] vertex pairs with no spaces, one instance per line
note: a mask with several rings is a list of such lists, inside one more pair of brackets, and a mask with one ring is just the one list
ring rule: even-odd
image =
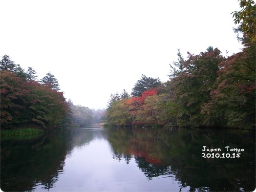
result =
[[[178,181],[180,190],[189,187],[190,191],[252,191],[255,188],[254,133],[113,128],[63,130],[29,140],[1,141],[1,189],[54,188],[59,175],[63,174],[67,157],[72,159],[73,149],[83,149],[101,139],[109,144],[106,148],[110,147],[110,152],[105,153],[109,155],[112,151],[112,162],[124,160],[127,165],[137,165],[149,182],[154,182],[154,178],[167,181],[172,178],[171,181]],[[240,158],[202,158],[202,146],[223,151],[225,146],[230,146],[245,151]],[[97,170],[97,167],[92,170],[94,168]]]

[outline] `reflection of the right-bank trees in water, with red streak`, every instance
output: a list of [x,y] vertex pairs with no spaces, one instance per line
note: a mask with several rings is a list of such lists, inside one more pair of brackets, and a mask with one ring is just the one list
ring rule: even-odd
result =
[[[132,156],[148,180],[165,175],[190,191],[255,189],[254,134],[236,130],[112,129],[108,131],[116,159]],[[202,146],[244,148],[240,158],[202,158]],[[231,154],[231,153],[230,153]]]

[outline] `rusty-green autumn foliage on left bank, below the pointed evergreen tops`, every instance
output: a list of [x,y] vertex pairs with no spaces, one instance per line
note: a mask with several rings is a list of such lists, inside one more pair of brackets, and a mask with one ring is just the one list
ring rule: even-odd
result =
[[69,106],[62,92],[9,70],[0,74],[3,129],[26,125],[52,129],[65,124]]

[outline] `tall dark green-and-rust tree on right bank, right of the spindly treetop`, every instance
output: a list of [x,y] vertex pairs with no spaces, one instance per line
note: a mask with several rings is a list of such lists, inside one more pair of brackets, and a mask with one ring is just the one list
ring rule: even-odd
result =
[[[209,49],[210,51],[210,49]],[[200,126],[203,115],[200,112],[204,103],[211,98],[210,92],[216,88],[219,64],[225,58],[219,49],[213,52],[189,54],[184,61],[186,72],[172,79],[170,102],[175,109],[172,115],[178,126]]]

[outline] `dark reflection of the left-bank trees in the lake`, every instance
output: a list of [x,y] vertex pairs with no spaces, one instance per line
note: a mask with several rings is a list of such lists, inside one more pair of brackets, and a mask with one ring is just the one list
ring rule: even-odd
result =
[[58,180],[70,148],[70,133],[58,132],[29,140],[1,142],[1,189],[50,189]]

